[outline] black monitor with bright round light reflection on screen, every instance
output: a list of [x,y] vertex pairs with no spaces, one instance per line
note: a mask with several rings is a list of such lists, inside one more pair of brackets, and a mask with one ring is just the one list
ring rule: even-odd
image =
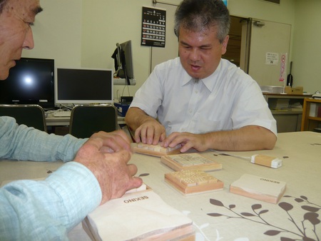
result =
[[54,59],[21,58],[0,81],[1,104],[38,104],[54,108]]

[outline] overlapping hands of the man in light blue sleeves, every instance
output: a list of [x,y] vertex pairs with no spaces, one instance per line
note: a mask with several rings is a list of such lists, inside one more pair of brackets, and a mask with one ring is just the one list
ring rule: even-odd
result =
[[86,166],[96,176],[103,198],[101,204],[120,198],[127,190],[138,188],[143,181],[133,177],[137,167],[127,164],[131,148],[127,135],[121,130],[93,134],[78,150],[74,161]]

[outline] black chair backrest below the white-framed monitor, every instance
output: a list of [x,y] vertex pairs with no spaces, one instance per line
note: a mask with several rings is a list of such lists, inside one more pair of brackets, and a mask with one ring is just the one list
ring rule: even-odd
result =
[[88,138],[100,130],[118,129],[117,109],[112,105],[75,106],[71,110],[69,134]]

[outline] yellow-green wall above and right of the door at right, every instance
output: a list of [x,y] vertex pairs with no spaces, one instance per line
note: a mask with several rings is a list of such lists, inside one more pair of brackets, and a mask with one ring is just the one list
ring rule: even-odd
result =
[[293,86],[303,86],[310,93],[321,91],[320,0],[281,0],[280,5],[263,0],[229,0],[228,9],[235,16],[291,24],[289,59],[293,62]]

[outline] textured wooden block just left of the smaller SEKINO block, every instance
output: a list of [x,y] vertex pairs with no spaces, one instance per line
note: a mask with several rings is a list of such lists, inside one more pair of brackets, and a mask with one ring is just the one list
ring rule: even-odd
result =
[[183,195],[223,190],[224,183],[203,170],[180,170],[165,173],[165,182]]

